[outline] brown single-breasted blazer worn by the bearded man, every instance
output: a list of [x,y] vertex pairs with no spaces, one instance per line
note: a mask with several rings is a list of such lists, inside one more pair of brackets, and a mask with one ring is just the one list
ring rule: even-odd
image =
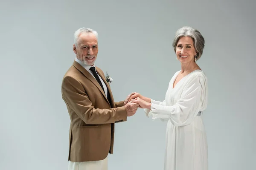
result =
[[98,67],[96,71],[107,85],[110,102],[97,80],[76,61],[62,81],[62,99],[70,115],[70,161],[97,161],[112,154],[114,123],[127,120],[124,101],[114,102],[104,73]]

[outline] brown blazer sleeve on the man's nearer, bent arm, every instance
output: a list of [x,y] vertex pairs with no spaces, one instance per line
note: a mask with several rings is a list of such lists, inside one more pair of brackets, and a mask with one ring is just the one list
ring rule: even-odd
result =
[[99,109],[94,108],[81,83],[74,77],[64,77],[62,96],[70,107],[86,124],[108,124],[127,121],[125,107]]

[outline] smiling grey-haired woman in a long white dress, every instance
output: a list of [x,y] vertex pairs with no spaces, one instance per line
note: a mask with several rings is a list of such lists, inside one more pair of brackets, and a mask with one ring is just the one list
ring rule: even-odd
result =
[[165,170],[208,170],[207,137],[201,117],[207,108],[207,77],[196,63],[203,54],[204,37],[195,28],[180,28],[173,48],[181,70],[169,82],[165,100],[157,102],[138,93],[130,100],[152,119],[168,120]]

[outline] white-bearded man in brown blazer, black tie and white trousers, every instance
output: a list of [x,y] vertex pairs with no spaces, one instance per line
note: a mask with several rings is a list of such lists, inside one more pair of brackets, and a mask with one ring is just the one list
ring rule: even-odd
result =
[[95,66],[98,34],[80,28],[74,34],[76,59],[64,75],[61,92],[70,115],[69,170],[107,170],[113,153],[114,124],[135,114],[138,104],[114,102],[103,71]]

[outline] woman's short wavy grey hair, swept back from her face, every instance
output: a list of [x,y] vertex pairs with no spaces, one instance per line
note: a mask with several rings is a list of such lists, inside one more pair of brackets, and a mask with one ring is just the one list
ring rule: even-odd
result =
[[174,51],[176,52],[176,46],[178,43],[178,40],[180,37],[191,37],[193,42],[194,42],[194,47],[195,51],[197,52],[196,54],[196,59],[200,59],[200,57],[203,54],[203,49],[204,49],[204,37],[201,35],[201,33],[192,27],[189,26],[184,26],[182,28],[179,28],[176,33],[174,40],[172,42],[172,46],[174,48]]

